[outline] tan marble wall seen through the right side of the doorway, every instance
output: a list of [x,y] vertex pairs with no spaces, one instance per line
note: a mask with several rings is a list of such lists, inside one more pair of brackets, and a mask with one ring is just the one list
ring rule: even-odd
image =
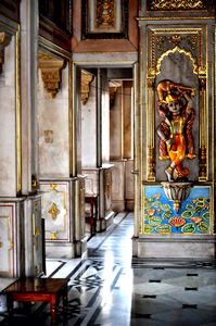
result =
[[117,88],[114,106],[110,110],[110,152],[112,170],[112,209],[134,210],[131,82]]

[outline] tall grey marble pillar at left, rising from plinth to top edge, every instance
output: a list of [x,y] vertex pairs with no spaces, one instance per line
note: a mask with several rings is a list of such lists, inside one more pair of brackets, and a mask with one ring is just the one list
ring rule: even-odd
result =
[[[35,191],[38,180],[38,0],[21,1],[21,168],[22,193]],[[33,14],[34,13],[34,14]]]

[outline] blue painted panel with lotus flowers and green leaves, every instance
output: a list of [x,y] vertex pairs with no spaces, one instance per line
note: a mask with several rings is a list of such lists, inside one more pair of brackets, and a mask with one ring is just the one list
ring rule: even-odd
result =
[[181,234],[209,235],[211,187],[195,186],[180,205],[177,213],[161,186],[143,186],[143,216],[140,221],[140,234]]

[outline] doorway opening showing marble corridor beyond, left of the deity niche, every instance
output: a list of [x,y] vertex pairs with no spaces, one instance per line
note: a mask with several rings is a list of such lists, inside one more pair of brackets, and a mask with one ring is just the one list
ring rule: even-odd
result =
[[116,213],[134,211],[134,68],[77,66],[80,139],[85,177],[85,230],[105,230]]

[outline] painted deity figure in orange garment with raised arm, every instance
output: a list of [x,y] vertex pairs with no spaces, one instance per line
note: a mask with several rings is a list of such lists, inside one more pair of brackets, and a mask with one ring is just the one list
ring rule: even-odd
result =
[[157,85],[157,95],[158,112],[164,118],[157,128],[160,160],[170,160],[165,170],[168,181],[182,180],[189,175],[189,170],[182,166],[183,160],[195,158],[192,136],[194,88],[162,80]]

